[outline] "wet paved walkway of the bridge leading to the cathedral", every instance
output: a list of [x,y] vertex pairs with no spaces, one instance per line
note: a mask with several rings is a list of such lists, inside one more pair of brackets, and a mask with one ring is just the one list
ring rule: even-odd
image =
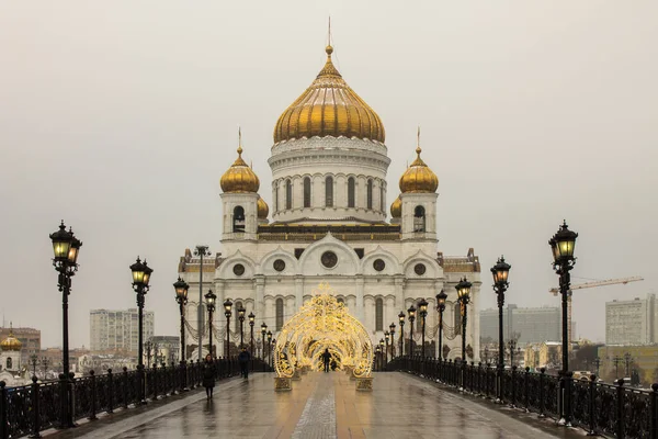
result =
[[[416,376],[375,374],[361,393],[344,373],[309,373],[275,393],[273,374],[219,382],[168,404],[137,408],[55,436],[66,438],[580,438],[549,419],[499,407]],[[129,416],[128,416],[129,415]]]

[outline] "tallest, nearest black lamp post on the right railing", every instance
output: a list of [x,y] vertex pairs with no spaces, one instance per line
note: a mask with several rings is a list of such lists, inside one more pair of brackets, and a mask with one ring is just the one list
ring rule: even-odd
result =
[[563,395],[564,404],[563,412],[564,417],[559,420],[560,425],[567,427],[571,426],[571,390],[569,379],[567,376],[569,371],[569,322],[568,322],[568,302],[569,302],[569,289],[571,283],[571,277],[569,271],[576,264],[576,258],[574,257],[574,247],[576,246],[576,238],[578,234],[569,230],[567,222],[565,221],[560,228],[557,230],[553,238],[548,240],[551,250],[553,251],[553,269],[559,275],[559,292],[561,294],[561,308],[563,308]]

